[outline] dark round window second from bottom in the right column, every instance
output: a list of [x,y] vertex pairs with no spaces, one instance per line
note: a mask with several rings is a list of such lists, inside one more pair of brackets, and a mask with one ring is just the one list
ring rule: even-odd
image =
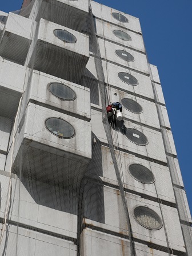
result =
[[134,179],[142,183],[151,184],[155,182],[155,177],[147,167],[139,165],[139,163],[132,163],[129,166],[129,173]]

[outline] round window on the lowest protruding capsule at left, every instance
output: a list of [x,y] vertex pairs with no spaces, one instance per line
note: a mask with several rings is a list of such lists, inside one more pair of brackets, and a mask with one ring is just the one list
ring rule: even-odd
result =
[[48,118],[45,121],[47,129],[59,138],[72,138],[75,136],[75,130],[70,123],[60,118]]

